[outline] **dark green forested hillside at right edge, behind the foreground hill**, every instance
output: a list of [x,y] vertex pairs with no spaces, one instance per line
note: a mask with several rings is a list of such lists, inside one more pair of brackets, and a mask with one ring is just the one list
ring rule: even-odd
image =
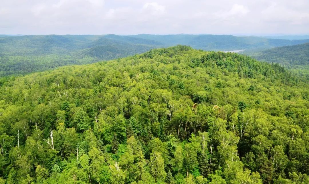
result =
[[276,47],[252,54],[258,60],[276,62],[285,66],[309,65],[309,43]]

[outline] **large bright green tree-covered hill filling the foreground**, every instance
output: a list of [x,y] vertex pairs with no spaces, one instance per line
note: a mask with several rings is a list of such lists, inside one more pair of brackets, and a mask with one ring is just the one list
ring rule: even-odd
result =
[[0,182],[308,183],[309,88],[187,46],[3,81]]

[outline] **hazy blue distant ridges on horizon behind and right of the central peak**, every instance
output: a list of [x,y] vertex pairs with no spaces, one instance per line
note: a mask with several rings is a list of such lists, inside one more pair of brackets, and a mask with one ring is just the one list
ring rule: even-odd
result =
[[166,46],[177,44],[190,45],[195,49],[203,50],[241,50],[267,49],[277,46],[297,45],[309,42],[305,40],[270,39],[256,36],[233,35],[133,35],[132,37],[154,40]]

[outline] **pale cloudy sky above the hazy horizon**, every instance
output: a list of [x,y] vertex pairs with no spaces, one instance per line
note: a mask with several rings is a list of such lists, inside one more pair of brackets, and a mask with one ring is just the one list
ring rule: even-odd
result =
[[3,0],[0,34],[309,34],[308,0]]

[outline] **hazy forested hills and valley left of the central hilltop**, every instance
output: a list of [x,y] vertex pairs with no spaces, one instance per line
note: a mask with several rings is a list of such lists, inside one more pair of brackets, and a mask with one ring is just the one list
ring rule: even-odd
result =
[[[0,77],[122,58],[158,48],[159,43],[111,35],[34,35],[0,37]],[[151,45],[150,45],[151,44]]]

